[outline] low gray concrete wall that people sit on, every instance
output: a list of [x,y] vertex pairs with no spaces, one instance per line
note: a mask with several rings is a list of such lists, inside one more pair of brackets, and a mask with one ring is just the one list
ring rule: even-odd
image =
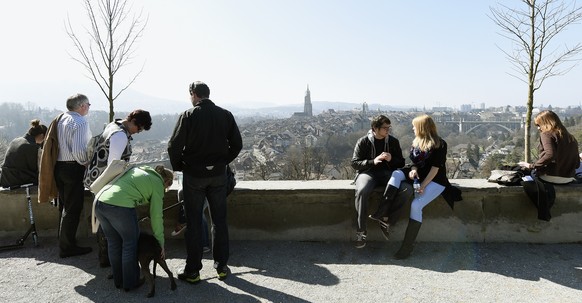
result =
[[[442,198],[424,209],[419,241],[452,242],[580,242],[582,239],[582,186],[556,187],[552,221],[537,220],[537,212],[521,187],[505,187],[485,180],[458,179],[452,183],[463,191],[464,200],[451,210]],[[56,235],[58,211],[50,204],[36,203],[33,211],[39,236]],[[379,193],[371,199],[375,210]],[[176,202],[176,186],[165,197],[166,207]],[[80,236],[90,236],[92,197],[87,193]],[[0,237],[18,237],[28,228],[26,198],[22,190],[0,192]],[[228,201],[231,239],[350,241],[354,237],[354,186],[350,180],[334,181],[242,181]],[[394,240],[403,237],[409,206],[394,226]],[[143,216],[146,213],[140,210]],[[165,212],[166,234],[173,230],[178,209]],[[383,240],[370,221],[369,240]],[[148,228],[145,221],[143,228]]]

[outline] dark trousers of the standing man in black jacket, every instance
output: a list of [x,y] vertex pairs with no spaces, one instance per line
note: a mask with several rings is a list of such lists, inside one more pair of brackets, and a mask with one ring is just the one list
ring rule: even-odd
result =
[[229,237],[226,224],[226,173],[215,177],[195,178],[184,173],[184,210],[186,212],[186,268],[187,272],[202,269],[203,228],[200,222],[204,201],[208,200],[214,227],[212,257],[219,268],[229,258]]

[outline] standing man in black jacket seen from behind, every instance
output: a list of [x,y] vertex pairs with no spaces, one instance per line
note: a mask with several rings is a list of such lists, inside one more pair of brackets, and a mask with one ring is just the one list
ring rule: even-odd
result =
[[186,266],[178,278],[200,282],[202,269],[202,209],[204,200],[215,227],[213,235],[214,268],[224,280],[229,273],[228,226],[226,225],[226,166],[242,149],[240,131],[231,112],[216,106],[203,82],[190,84],[193,108],[178,118],[168,142],[172,168],[183,172],[184,210],[186,212]]

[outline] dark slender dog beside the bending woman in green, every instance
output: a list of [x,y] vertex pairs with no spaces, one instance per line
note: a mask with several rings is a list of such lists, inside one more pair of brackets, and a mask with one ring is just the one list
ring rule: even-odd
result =
[[[146,233],[139,234],[139,244],[137,247],[137,259],[139,260],[139,265],[141,266],[141,273],[150,285],[150,292],[147,294],[148,298],[154,296],[156,292],[156,285],[154,279],[156,278],[156,265],[160,266],[166,271],[168,277],[170,278],[170,288],[172,290],[176,289],[176,281],[174,280],[174,275],[170,269],[168,269],[168,264],[166,260],[162,259],[160,255],[162,254],[162,248],[158,240],[154,236]],[[154,261],[153,276],[150,274],[150,262]]]

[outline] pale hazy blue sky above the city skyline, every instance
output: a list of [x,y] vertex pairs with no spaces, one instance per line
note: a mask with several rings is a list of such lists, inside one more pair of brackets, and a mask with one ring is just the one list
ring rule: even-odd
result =
[[[200,80],[225,107],[301,104],[307,85],[315,102],[526,104],[527,85],[509,75],[512,65],[500,50],[511,45],[488,17],[497,1],[130,2],[148,23],[116,81],[128,81],[143,67],[131,85],[142,95],[188,106],[188,84]],[[106,108],[96,84],[71,59],[77,53],[65,31],[67,18],[82,34],[87,17],[81,1],[2,1],[0,103],[58,107],[69,95],[87,92],[92,108]],[[582,25],[560,38],[555,47],[582,42]],[[578,65],[546,80],[534,106],[580,105],[580,79]]]

